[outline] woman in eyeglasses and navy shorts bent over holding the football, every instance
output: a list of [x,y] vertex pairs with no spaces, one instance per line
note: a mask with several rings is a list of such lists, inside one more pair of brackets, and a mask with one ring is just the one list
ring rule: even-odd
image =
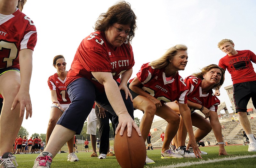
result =
[[[35,167],[50,167],[58,150],[75,134],[80,134],[94,101],[114,115],[116,133],[127,136],[140,129],[133,120],[132,97],[127,88],[134,65],[130,41],[134,37],[136,16],[129,3],[118,1],[100,14],[96,32],[84,38],[68,71],[66,87],[71,104],[60,117]],[[121,78],[121,83],[116,80]],[[118,117],[117,117],[118,116]],[[136,132],[132,132],[132,127]],[[59,140],[58,137],[62,137]],[[134,147],[133,147],[134,148]],[[146,149],[145,149],[146,150]],[[125,153],[124,153],[125,154]]]

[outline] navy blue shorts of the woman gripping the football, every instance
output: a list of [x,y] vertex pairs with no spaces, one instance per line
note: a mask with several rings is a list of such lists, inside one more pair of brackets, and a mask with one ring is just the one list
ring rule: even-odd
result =
[[[116,83],[119,85],[118,82]],[[89,79],[82,77],[76,79],[68,85],[67,92],[71,100],[71,104],[60,117],[57,124],[75,131],[76,134],[79,135],[83,129],[84,121],[92,110],[94,101],[96,101],[100,106],[107,109],[115,116],[113,117],[113,123],[115,126],[118,125],[118,117],[111,107],[106,93],[99,92]],[[120,92],[128,113],[132,119],[134,119],[132,101],[129,96],[127,100],[125,99],[125,92],[123,90]]]

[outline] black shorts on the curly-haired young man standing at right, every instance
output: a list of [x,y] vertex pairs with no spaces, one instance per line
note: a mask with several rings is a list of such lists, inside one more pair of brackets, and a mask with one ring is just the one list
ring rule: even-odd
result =
[[256,107],[256,81],[233,84],[233,98],[237,112],[247,112],[247,104],[252,98],[252,104]]

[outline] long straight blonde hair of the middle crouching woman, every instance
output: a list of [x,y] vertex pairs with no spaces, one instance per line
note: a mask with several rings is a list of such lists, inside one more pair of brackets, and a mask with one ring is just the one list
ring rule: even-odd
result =
[[150,66],[156,68],[156,69],[161,69],[161,68],[167,68],[170,61],[172,60],[173,57],[179,52],[179,51],[187,51],[188,47],[183,44],[178,44],[175,45],[171,48],[169,48],[162,57],[158,58],[157,60],[154,60],[150,62]]

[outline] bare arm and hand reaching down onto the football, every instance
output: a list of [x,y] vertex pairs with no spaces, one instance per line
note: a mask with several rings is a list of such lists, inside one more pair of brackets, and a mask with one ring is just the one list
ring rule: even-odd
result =
[[139,127],[133,121],[124,105],[124,101],[119,91],[118,85],[113,79],[112,74],[110,72],[92,72],[92,75],[100,82],[100,84],[104,85],[110,105],[119,118],[119,124],[116,128],[116,133],[121,128],[120,135],[122,136],[124,133],[124,128],[127,126],[128,137],[131,137],[132,135],[132,127],[134,127],[138,132],[138,135],[141,136]]

